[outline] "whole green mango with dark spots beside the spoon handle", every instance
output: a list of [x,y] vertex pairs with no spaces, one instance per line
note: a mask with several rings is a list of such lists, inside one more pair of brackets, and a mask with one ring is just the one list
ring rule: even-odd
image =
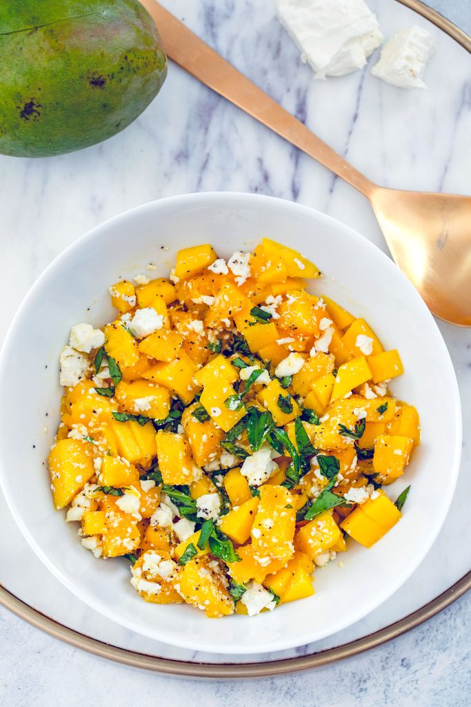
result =
[[46,157],[106,140],[166,76],[138,0],[0,0],[0,153]]

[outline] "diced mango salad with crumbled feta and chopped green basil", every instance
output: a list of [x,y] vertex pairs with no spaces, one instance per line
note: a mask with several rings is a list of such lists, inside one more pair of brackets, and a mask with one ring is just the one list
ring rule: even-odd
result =
[[408,488],[383,486],[420,435],[388,391],[400,356],[308,279],[268,238],[227,261],[189,247],[169,279],[113,284],[102,329],[72,327],[54,505],[96,557],[129,560],[145,601],[254,616],[400,520]]

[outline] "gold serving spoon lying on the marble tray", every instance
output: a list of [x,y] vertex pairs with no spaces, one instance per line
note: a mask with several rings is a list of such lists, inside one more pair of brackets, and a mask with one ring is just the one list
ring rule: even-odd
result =
[[471,326],[471,197],[386,189],[370,182],[155,0],[141,0],[167,55],[358,189],[373,206],[395,262],[437,317]]

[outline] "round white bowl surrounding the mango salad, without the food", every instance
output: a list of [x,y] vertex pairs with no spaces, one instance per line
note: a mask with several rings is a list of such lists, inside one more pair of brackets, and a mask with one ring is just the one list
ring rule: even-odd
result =
[[[71,325],[112,317],[108,286],[157,264],[168,274],[181,247],[213,243],[220,255],[251,250],[268,236],[301,250],[326,274],[312,290],[364,317],[386,349],[398,348],[405,374],[390,386],[414,404],[422,444],[407,473],[402,520],[371,549],[350,542],[315,572],[316,594],[248,619],[210,621],[189,606],[148,604],[129,583],[126,560],[99,561],[52,505],[46,459],[59,423],[58,357]],[[112,218],[68,247],[35,282],[11,325],[0,358],[0,480],[14,518],[52,573],[109,619],[174,645],[213,653],[261,653],[324,638],[378,607],[412,574],[439,533],[458,475],[458,385],[439,329],[395,264],[333,218],[271,197],[189,194]],[[47,427],[47,431],[44,430]]]

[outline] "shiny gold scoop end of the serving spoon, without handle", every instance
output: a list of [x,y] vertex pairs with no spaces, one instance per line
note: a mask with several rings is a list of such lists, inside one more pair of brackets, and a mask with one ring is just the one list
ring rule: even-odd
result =
[[471,327],[471,197],[374,187],[389,250],[440,319]]

